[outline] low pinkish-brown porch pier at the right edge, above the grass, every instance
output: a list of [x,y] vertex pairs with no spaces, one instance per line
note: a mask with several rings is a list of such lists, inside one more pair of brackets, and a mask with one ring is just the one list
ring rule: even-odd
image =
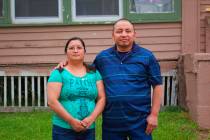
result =
[[210,53],[184,56],[187,106],[201,128],[210,129]]

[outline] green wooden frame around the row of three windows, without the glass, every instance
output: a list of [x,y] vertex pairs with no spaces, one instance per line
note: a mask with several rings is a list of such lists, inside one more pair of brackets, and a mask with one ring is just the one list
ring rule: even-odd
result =
[[[121,1],[119,6],[120,15],[118,18],[106,17],[100,20],[89,18],[83,20],[75,20],[73,17],[73,0],[59,0],[60,3],[60,14],[62,19],[54,22],[19,22],[16,23],[12,21],[12,0],[3,0],[3,11],[4,15],[0,18],[1,26],[48,26],[48,25],[80,25],[80,24],[110,24],[119,18],[127,18],[134,23],[153,23],[153,22],[179,22],[181,21],[181,0],[174,0],[174,13],[129,13],[129,0],[119,0]],[[14,0],[13,0],[14,1]],[[13,9],[14,10],[14,9]],[[13,14],[14,16],[14,14]],[[14,17],[13,17],[14,18]],[[107,19],[108,18],[108,19]],[[91,20],[90,20],[91,19]],[[13,19],[14,20],[14,19]],[[44,20],[46,21],[46,19]]]

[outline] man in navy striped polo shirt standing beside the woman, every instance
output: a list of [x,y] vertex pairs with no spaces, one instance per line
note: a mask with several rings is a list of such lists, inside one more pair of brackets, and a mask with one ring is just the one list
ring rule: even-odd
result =
[[157,127],[162,94],[160,66],[152,52],[135,43],[135,35],[130,21],[116,21],[112,32],[115,45],[94,60],[106,92],[103,140],[151,140]]

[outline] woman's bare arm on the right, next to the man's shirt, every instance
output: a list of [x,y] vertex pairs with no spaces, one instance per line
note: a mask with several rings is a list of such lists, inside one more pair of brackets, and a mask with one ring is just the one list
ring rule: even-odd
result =
[[104,110],[105,102],[106,102],[103,81],[102,80],[97,81],[96,84],[98,88],[98,97],[97,97],[97,103],[96,103],[95,109],[90,116],[82,120],[82,125],[87,128],[90,127],[90,125],[102,113],[102,111]]

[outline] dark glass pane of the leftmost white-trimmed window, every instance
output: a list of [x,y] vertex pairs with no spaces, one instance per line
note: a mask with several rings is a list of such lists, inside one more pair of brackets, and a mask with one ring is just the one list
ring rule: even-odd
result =
[[15,17],[58,17],[58,0],[16,0]]

